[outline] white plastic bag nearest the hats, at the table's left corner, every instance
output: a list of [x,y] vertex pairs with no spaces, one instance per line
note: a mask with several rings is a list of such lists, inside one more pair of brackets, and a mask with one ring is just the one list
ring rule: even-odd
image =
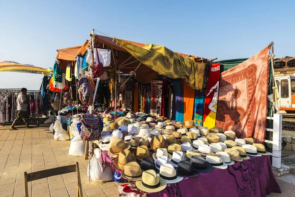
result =
[[90,161],[90,179],[92,181],[102,181],[102,182],[112,181],[114,178],[114,172],[108,167],[106,167],[105,170],[103,171],[102,164],[99,160],[100,155],[101,155],[101,150],[96,148],[94,150],[94,155]]

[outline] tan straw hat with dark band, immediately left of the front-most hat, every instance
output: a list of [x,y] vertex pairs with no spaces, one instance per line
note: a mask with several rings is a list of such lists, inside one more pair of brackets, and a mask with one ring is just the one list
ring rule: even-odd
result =
[[143,170],[137,162],[130,162],[125,165],[124,169],[121,171],[121,176],[123,179],[130,181],[141,181]]

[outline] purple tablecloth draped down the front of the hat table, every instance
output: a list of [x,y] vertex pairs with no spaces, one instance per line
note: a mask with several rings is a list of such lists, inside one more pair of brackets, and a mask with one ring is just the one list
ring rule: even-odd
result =
[[[113,171],[107,151],[102,152],[101,162]],[[176,184],[168,184],[161,192],[150,193],[149,197],[265,197],[270,193],[281,193],[273,175],[269,156],[251,157],[236,162],[227,169],[214,168],[210,173],[200,173],[194,178],[185,178]]]

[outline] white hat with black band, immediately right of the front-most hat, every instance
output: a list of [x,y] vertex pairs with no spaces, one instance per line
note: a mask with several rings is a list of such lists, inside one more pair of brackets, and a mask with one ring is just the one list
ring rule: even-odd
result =
[[161,165],[159,175],[168,184],[178,183],[183,179],[183,177],[177,176],[176,169],[172,164]]

